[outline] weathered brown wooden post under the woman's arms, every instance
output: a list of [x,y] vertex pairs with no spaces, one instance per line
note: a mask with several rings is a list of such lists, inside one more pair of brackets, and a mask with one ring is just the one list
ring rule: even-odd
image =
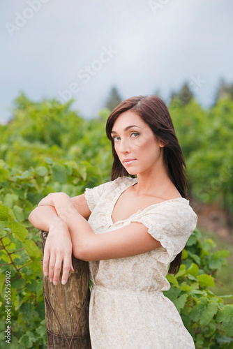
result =
[[[47,235],[40,230],[43,255]],[[91,349],[88,262],[72,256],[72,264],[75,271],[66,285],[61,284],[61,274],[57,285],[43,276],[48,349]]]

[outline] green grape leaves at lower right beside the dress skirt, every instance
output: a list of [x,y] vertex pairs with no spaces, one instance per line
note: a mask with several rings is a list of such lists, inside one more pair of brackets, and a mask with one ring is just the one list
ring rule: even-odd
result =
[[[233,305],[224,304],[226,296],[216,296],[209,288],[216,281],[216,272],[226,265],[229,252],[213,253],[213,240],[200,243],[196,229],[183,251],[183,262],[176,276],[167,275],[172,284],[164,292],[181,314],[184,325],[193,336],[196,348],[230,348],[233,346]],[[233,295],[228,295],[233,299]]]

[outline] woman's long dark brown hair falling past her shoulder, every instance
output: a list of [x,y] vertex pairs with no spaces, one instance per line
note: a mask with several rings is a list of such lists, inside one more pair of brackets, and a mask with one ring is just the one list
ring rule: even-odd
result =
[[[117,105],[108,117],[106,133],[107,138],[112,142],[112,155],[114,158],[111,180],[121,176],[135,177],[134,175],[129,174],[119,161],[117,152],[114,149],[114,140],[111,136],[114,122],[121,113],[126,112],[127,110],[137,113],[144,122],[150,126],[154,135],[156,135],[156,138],[165,144],[165,147],[163,148],[163,160],[165,168],[167,169],[167,174],[181,196],[186,198],[188,184],[186,172],[184,170],[184,168],[186,168],[186,163],[183,158],[181,147],[176,138],[170,112],[164,101],[158,96],[136,96],[128,98],[126,101],[122,101]],[[176,274],[179,271],[181,255],[182,251],[176,255],[176,258],[174,258],[170,263],[170,268],[168,270],[170,274]]]

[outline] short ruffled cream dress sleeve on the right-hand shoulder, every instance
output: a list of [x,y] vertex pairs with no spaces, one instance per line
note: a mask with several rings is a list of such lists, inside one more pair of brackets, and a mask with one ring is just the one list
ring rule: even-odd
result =
[[149,234],[160,242],[162,247],[154,250],[155,258],[168,265],[186,246],[196,228],[197,214],[188,203],[162,202],[147,207],[133,221],[144,224]]

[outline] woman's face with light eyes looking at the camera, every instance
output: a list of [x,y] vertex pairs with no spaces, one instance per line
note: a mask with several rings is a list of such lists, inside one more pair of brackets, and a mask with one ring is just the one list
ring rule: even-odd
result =
[[117,156],[129,174],[146,174],[162,164],[164,145],[135,112],[128,110],[120,114],[111,135]]

